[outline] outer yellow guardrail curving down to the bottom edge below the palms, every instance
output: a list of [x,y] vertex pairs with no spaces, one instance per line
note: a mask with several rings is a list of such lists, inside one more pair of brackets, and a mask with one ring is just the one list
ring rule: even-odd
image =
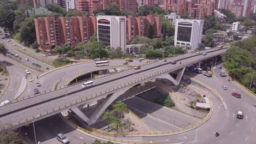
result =
[[[65,118],[66,119],[66,118]],[[79,127],[77,124],[74,124],[73,122],[69,121],[68,119],[66,119],[67,122],[71,123],[74,127],[84,131],[85,133],[88,133],[88,134],[91,134],[91,135],[94,135],[94,136],[97,136],[97,137],[100,137],[102,139],[105,139],[105,140],[109,140],[109,141],[115,141],[115,142],[123,142],[123,143],[141,143],[141,144],[146,144],[146,143],[159,143],[159,142],[152,142],[152,141],[149,141],[149,142],[144,142],[144,141],[130,141],[130,140],[122,140],[122,139],[116,139],[114,137],[109,137],[109,136],[103,136],[103,135],[99,135],[99,134],[95,134],[89,130],[86,130],[82,127]]]

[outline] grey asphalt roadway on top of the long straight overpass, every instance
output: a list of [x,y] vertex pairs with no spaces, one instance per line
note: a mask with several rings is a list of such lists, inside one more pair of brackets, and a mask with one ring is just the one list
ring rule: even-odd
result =
[[[220,50],[220,51],[224,52],[225,50]],[[219,51],[212,52],[208,55],[216,55],[217,53],[219,53]],[[200,58],[200,57],[205,57],[205,56],[200,55],[200,56],[192,57],[192,58],[189,58],[189,59],[182,60],[182,62],[185,63],[185,62],[188,62],[188,61],[193,61],[194,59],[197,59],[197,58]],[[174,58],[174,59],[177,59],[177,57]],[[135,70],[135,71],[141,71],[143,69],[152,68],[152,67],[155,67],[156,65],[163,64],[163,63],[165,63],[165,62],[159,61],[159,62],[150,64],[150,65],[146,65],[146,66],[142,67],[142,69]],[[143,77],[143,76],[146,76],[146,75],[149,75],[149,74],[153,74],[153,73],[157,73],[160,70],[165,70],[167,68],[176,67],[176,65],[172,65],[172,64],[163,65],[161,67],[152,69],[150,71],[143,71],[142,73],[127,76],[127,77],[124,77],[123,79],[115,80],[113,82],[109,82],[109,83],[106,83],[106,84],[103,84],[103,85],[92,87],[92,88],[86,90],[86,94],[84,93],[84,91],[78,92],[78,93],[75,93],[75,94],[72,94],[72,95],[67,95],[66,97],[62,97],[60,99],[51,100],[51,101],[48,101],[47,103],[43,103],[43,104],[40,104],[40,105],[37,105],[37,106],[30,107],[28,109],[24,109],[24,110],[15,112],[15,113],[11,113],[10,115],[1,117],[0,118],[1,119],[0,124],[5,125],[5,124],[7,124],[6,122],[8,122],[8,123],[17,122],[21,119],[31,117],[33,115],[37,115],[38,113],[45,112],[46,111],[45,107],[47,107],[48,110],[54,109],[57,106],[65,105],[67,103],[70,103],[70,101],[75,101],[77,99],[80,99],[81,97],[93,95],[93,94],[95,94],[95,92],[98,92],[99,89],[101,89],[101,91],[103,91],[103,89],[109,89],[109,88],[112,88],[114,86],[119,86],[121,83],[130,82],[132,80],[139,79],[140,77]],[[107,76],[107,77],[102,77],[101,79],[97,79],[97,80],[94,81],[94,83],[95,83],[95,85],[98,85],[98,84],[102,83],[103,81],[113,80],[117,77],[121,77],[121,76],[124,76],[124,75],[127,75],[127,74],[132,74],[132,73],[133,73],[133,70],[123,71],[122,73],[118,73],[118,74],[115,74],[115,75],[110,75],[110,76]],[[80,89],[80,85],[74,85],[74,86],[71,86],[71,87],[68,87],[68,88],[65,88],[65,89],[61,89],[59,91],[54,91],[54,92],[51,92],[51,93],[43,94],[40,97],[35,97],[35,98],[27,99],[27,100],[22,100],[18,103],[5,105],[5,106],[0,107],[1,114],[5,113],[7,111],[13,111],[15,109],[18,109],[18,107],[26,107],[27,105],[31,105],[33,103],[38,103],[39,101],[44,101],[45,99],[50,99],[50,98],[56,97],[57,95],[65,94],[66,92],[77,91],[79,89]],[[22,113],[22,115],[20,115],[19,113]]]

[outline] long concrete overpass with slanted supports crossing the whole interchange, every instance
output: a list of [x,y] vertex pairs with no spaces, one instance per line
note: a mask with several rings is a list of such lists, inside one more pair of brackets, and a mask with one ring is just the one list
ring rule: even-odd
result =
[[[143,84],[152,79],[168,79],[178,85],[185,67],[199,63],[203,59],[225,53],[226,49],[207,50],[206,56],[202,53],[191,53],[168,59],[167,62],[159,61],[153,64],[144,65],[139,70],[126,70],[121,73],[102,77],[94,80],[95,86],[88,89],[81,89],[80,84],[69,86],[57,91],[41,94],[36,97],[25,98],[0,107],[0,130],[12,130],[38,121],[45,117],[54,115],[61,111],[84,105],[90,101],[106,98],[106,100],[92,114],[89,124],[94,123],[119,95],[133,86]],[[177,64],[171,64],[177,61]],[[182,64],[179,64],[182,62]],[[176,73],[174,79],[169,73]]]

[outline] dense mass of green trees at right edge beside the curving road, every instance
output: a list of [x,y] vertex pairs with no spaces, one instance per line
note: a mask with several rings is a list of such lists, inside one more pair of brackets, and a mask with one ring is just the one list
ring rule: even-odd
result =
[[253,71],[256,72],[255,55],[256,35],[232,44],[222,57],[229,74],[247,88],[251,87],[253,92],[256,92],[256,74],[253,75]]

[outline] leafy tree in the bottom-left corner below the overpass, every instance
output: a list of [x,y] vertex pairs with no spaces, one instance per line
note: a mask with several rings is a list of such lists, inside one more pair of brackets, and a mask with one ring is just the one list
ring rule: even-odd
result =
[[15,144],[20,142],[19,134],[14,131],[0,133],[0,143]]

